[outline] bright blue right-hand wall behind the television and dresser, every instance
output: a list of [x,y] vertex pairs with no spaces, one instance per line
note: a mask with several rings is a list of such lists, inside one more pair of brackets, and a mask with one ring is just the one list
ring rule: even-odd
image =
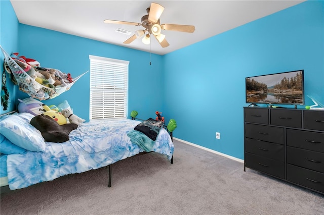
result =
[[305,104],[307,95],[324,103],[323,5],[305,2],[164,56],[175,137],[244,158],[245,77],[304,69]]

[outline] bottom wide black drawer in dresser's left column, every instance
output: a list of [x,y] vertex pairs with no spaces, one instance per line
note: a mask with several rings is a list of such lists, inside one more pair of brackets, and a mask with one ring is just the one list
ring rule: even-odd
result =
[[269,159],[255,154],[245,153],[244,163],[246,167],[258,170],[279,178],[285,178],[285,165],[284,162]]

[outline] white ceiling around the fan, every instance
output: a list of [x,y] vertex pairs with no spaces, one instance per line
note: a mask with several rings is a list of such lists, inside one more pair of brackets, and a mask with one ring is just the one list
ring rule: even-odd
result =
[[[150,1],[50,1],[11,0],[20,23],[144,50],[158,55],[191,45],[240,25],[244,25],[304,1],[153,1],[165,7],[161,24],[194,25],[193,33],[166,31],[170,46],[162,48],[154,39],[123,42],[142,26],[106,24],[105,19],[141,23]],[[115,32],[117,28],[131,35]]]

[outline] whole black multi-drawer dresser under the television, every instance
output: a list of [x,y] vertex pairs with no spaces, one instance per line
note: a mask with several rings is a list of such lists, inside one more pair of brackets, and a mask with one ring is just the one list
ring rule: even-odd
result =
[[244,107],[244,171],[324,194],[324,111]]

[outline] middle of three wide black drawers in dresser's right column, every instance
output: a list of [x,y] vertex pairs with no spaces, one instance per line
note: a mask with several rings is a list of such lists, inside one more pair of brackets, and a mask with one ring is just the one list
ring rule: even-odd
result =
[[287,163],[324,173],[324,153],[287,146]]

